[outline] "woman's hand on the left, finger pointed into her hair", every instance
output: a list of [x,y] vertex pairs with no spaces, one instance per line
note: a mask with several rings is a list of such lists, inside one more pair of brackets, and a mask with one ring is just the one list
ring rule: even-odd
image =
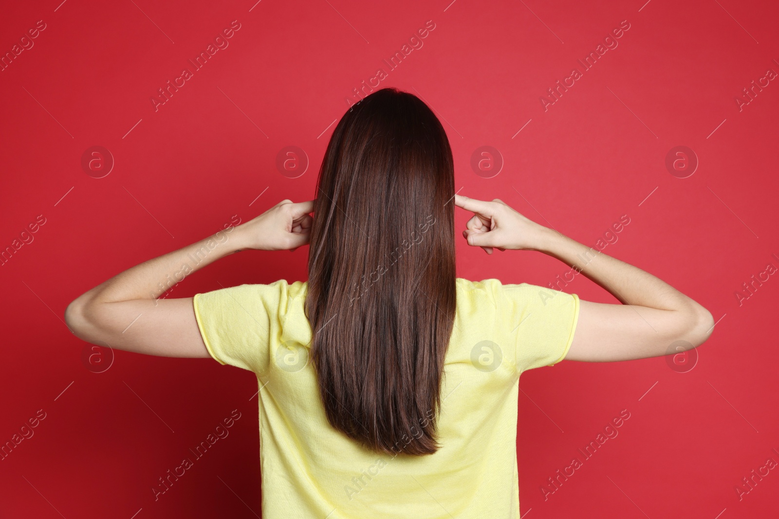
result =
[[282,200],[255,219],[235,228],[241,249],[294,251],[308,244],[314,201]]

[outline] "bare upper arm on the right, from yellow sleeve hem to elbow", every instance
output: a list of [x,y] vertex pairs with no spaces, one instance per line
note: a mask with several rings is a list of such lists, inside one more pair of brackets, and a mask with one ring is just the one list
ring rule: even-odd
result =
[[664,356],[680,351],[679,345],[691,349],[702,344],[713,328],[711,314],[700,305],[658,310],[582,300],[566,359],[612,362]]

